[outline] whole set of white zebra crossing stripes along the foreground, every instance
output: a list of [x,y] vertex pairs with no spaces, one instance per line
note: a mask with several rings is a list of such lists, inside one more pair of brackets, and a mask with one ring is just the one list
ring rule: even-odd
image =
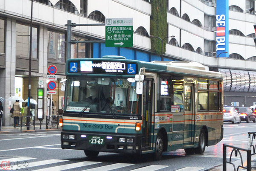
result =
[[[24,168],[32,168],[34,167],[33,171],[64,171],[68,169],[74,169],[74,168],[80,168],[84,166],[90,166],[92,165],[93,168],[81,168],[85,169],[83,171],[111,171],[114,169],[133,169],[131,171],[157,171],[160,169],[165,168],[166,170],[172,170],[172,168],[169,168],[170,165],[147,165],[147,166],[138,166],[137,168],[125,168],[128,166],[136,166],[136,164],[133,163],[114,163],[110,165],[103,165],[96,167],[96,164],[102,164],[102,162],[93,162],[93,161],[84,161],[84,162],[74,162],[74,163],[69,163],[67,164],[66,162],[70,162],[70,160],[63,160],[63,159],[48,159],[48,160],[42,160],[42,161],[36,161],[36,162],[29,162],[29,160],[35,160],[37,158],[32,158],[32,157],[15,157],[15,158],[8,158],[8,159],[1,159],[0,164],[2,162],[9,161],[9,162],[14,162],[14,164],[9,164],[9,169],[7,170],[19,170],[19,169],[24,169]],[[26,161],[27,165],[23,165],[22,161]],[[57,166],[52,166],[52,167],[47,167],[47,165],[50,164],[57,164]],[[6,168],[3,168],[3,165],[0,165],[0,170],[6,170]],[[40,169],[36,169],[35,167],[42,166]],[[5,167],[8,167],[8,165],[5,165]],[[201,167],[186,167],[186,168],[181,168],[175,171],[200,171],[204,168]],[[32,169],[29,169],[32,170]],[[173,170],[172,170],[173,171]]]

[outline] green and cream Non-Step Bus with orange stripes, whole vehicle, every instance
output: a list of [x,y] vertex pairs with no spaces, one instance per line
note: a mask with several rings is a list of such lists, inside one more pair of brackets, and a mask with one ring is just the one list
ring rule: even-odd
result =
[[61,148],[203,154],[223,138],[222,75],[195,62],[69,59]]

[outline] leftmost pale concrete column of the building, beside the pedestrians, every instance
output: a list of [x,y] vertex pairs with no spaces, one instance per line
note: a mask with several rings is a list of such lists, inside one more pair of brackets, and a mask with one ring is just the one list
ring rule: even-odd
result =
[[16,70],[16,20],[6,19],[6,68],[0,70],[0,97],[3,97],[3,125],[12,125],[10,117],[9,101],[10,96],[15,94],[15,70]]

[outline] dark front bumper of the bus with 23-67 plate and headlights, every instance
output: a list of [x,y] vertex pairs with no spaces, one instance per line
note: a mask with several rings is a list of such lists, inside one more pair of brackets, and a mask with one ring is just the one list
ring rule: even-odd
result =
[[61,148],[140,154],[141,135],[61,132]]

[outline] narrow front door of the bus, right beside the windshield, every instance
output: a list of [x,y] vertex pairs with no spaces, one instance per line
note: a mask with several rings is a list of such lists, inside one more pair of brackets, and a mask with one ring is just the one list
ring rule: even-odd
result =
[[153,110],[153,79],[145,78],[143,84],[142,151],[151,150],[151,122]]

